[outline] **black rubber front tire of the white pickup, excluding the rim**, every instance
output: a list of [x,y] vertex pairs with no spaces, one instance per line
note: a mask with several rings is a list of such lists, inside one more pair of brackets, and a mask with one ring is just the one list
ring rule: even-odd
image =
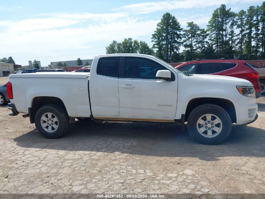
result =
[[[222,130],[215,137],[205,137],[197,130],[197,121],[205,114],[217,116],[222,123]],[[188,131],[191,137],[201,144],[215,145],[226,140],[232,129],[231,118],[228,113],[215,104],[203,104],[193,109],[188,117]],[[206,129],[207,130],[207,129]],[[214,131],[213,131],[214,132]],[[214,135],[214,134],[213,134]]]

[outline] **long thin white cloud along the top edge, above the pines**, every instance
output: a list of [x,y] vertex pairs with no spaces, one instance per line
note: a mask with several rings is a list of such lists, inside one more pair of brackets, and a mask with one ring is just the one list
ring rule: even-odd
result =
[[221,4],[251,3],[260,0],[172,0],[160,2],[136,3],[114,8],[113,10],[131,11],[136,14],[147,14],[162,10],[205,8],[209,6],[220,6]]

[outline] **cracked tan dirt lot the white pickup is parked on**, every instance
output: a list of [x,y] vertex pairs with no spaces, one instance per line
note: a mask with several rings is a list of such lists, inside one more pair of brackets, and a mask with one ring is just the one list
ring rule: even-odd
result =
[[257,121],[217,146],[176,124],[75,121],[45,139],[0,107],[0,193],[265,193],[265,97],[257,103]]

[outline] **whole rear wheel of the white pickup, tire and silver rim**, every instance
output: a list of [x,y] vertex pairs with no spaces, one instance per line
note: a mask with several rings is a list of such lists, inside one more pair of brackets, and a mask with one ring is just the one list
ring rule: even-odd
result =
[[60,106],[41,107],[35,115],[35,126],[46,138],[58,138],[65,134],[70,124],[66,110]]

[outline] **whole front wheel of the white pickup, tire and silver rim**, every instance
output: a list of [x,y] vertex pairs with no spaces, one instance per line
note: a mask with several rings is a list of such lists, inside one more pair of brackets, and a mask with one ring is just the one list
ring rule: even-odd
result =
[[218,144],[231,133],[228,113],[215,104],[203,104],[193,109],[188,117],[188,131],[201,144]]

